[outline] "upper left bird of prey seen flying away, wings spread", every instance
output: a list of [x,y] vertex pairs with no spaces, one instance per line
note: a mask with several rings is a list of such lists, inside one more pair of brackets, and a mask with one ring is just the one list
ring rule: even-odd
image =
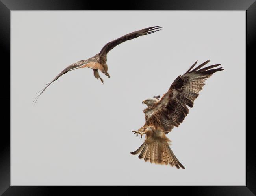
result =
[[126,34],[116,40],[113,40],[111,42],[108,42],[107,44],[104,45],[104,47],[101,49],[100,53],[96,54],[95,56],[88,58],[87,60],[80,60],[78,62],[75,62],[71,65],[69,65],[68,67],[66,67],[65,69],[63,69],[63,71],[61,71],[61,73],[59,73],[50,83],[45,84],[46,87],[43,88],[41,91],[39,91],[37,97],[35,98],[35,100],[33,102],[37,102],[37,99],[39,98],[39,96],[45,91],[45,89],[55,80],[57,80],[60,76],[62,76],[63,74],[72,71],[74,69],[79,69],[79,68],[91,68],[93,69],[93,74],[94,77],[97,79],[100,79],[101,82],[103,83],[103,79],[100,77],[100,74],[98,73],[98,70],[101,71],[102,73],[104,73],[106,76],[108,76],[110,78],[110,75],[108,73],[108,65],[107,65],[107,54],[109,51],[111,51],[111,49],[113,49],[114,47],[116,47],[117,45],[121,44],[122,42],[125,42],[127,40],[132,40],[134,38],[137,38],[139,36],[142,35],[148,35],[151,33],[154,33],[156,31],[160,31],[161,27],[159,26],[154,26],[154,27],[148,27],[145,29],[141,29],[139,31],[134,31],[132,33]]

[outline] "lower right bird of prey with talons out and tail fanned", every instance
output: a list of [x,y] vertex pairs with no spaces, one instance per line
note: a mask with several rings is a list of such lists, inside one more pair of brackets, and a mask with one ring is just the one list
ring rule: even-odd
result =
[[[176,166],[178,169],[184,166],[178,161],[173,154],[166,134],[171,132],[173,127],[178,127],[183,122],[185,116],[189,113],[187,108],[193,107],[194,100],[198,97],[199,91],[205,85],[204,82],[216,71],[223,70],[222,67],[212,69],[220,64],[211,65],[200,69],[210,60],[202,63],[195,69],[193,64],[189,70],[183,75],[178,76],[171,87],[168,89],[161,99],[160,96],[154,96],[153,99],[146,99],[145,103],[148,107],[143,110],[145,113],[145,125],[132,131],[138,136],[146,134],[145,142],[131,154],[139,154],[140,159],[150,161],[156,164],[166,164]],[[193,70],[192,70],[193,69]]]

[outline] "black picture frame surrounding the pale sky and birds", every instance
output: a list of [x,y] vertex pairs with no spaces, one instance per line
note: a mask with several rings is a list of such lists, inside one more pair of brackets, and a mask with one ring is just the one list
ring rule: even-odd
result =
[[[2,78],[7,77],[6,80],[10,81],[10,11],[12,10],[102,10],[102,9],[118,9],[118,10],[246,10],[246,65],[252,67],[255,62],[254,48],[256,40],[256,2],[255,0],[150,0],[150,1],[133,1],[117,4],[115,2],[101,1],[77,1],[77,0],[0,0],[0,42],[1,42],[1,62],[2,64]],[[228,52],[228,51],[227,51]],[[253,55],[254,54],[254,55]],[[4,68],[4,70],[3,70]],[[6,74],[6,73],[9,73]],[[252,74],[252,73],[248,73]],[[4,75],[4,76],[3,76]],[[9,80],[8,80],[9,77]],[[249,77],[246,72],[246,85],[252,82],[253,77]],[[6,85],[6,80],[2,80],[2,90],[9,92],[1,96],[2,105],[7,105],[9,101],[10,107],[6,111],[2,111],[3,117],[1,118],[7,124],[7,114],[10,118],[11,109],[11,85]],[[8,89],[9,88],[9,89]],[[249,87],[246,86],[246,89]],[[255,89],[255,87],[254,87]],[[246,91],[246,95],[247,95]],[[246,96],[248,98],[248,96]],[[246,103],[249,103],[247,100]],[[253,102],[252,102],[253,103]],[[235,106],[234,106],[235,107]],[[250,111],[251,109],[249,109]],[[246,106],[246,116],[249,116]],[[249,123],[246,117],[246,126]],[[10,127],[9,123],[9,127]],[[8,127],[8,125],[7,125]],[[247,127],[246,127],[247,128]],[[44,186],[10,186],[10,130],[2,126],[1,141],[0,141],[0,194],[3,196],[13,195],[58,195],[70,194],[74,195],[75,191],[85,191],[91,187],[44,187]],[[246,129],[246,186],[172,186],[165,187],[168,192],[178,191],[179,194],[192,194],[192,195],[255,195],[256,194],[256,162],[255,162],[255,145],[254,134],[255,130]],[[241,157],[243,158],[243,157]],[[228,165],[223,165],[228,167]],[[210,168],[209,168],[210,169]],[[139,172],[139,171],[138,171]],[[171,178],[171,176],[170,176]],[[106,187],[105,187],[106,188]],[[111,188],[111,187],[108,187]],[[138,187],[137,187],[138,188]],[[128,187],[125,189],[128,190]],[[94,187],[94,191],[101,191]],[[112,190],[117,190],[112,188]],[[145,188],[139,188],[143,193],[147,192]],[[161,188],[161,190],[164,190]],[[94,193],[96,193],[94,192]],[[128,191],[123,192],[128,194]],[[116,193],[117,194],[117,193]]]

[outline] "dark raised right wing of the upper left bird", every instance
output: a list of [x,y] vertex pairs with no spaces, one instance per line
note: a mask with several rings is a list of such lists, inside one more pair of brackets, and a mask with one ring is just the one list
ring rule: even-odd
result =
[[[156,31],[159,31],[160,28],[161,27],[159,27],[159,26],[149,27],[149,28],[141,29],[139,31],[134,31],[132,33],[126,34],[126,35],[122,36],[121,38],[118,38],[116,40],[108,42],[106,45],[104,45],[104,47],[101,49],[99,55],[100,56],[106,56],[106,54],[108,54],[108,52],[110,50],[112,50],[114,47],[121,44],[122,42],[125,42],[127,40],[132,40],[132,39],[137,38],[141,35],[148,35],[148,34],[154,33]],[[158,29],[158,30],[156,30],[156,29]]]

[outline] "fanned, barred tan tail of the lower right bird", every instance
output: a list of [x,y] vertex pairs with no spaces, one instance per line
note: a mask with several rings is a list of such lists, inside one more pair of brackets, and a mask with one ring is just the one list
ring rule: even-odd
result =
[[[140,152],[140,154],[139,154]],[[145,162],[148,160],[150,163],[155,164],[165,164],[171,165],[172,167],[175,165],[178,169],[181,167],[185,169],[185,167],[178,161],[176,156],[173,154],[169,144],[167,142],[163,143],[162,141],[156,140],[152,143],[147,143],[147,140],[134,152],[131,154],[139,154],[139,159],[144,159]]]

